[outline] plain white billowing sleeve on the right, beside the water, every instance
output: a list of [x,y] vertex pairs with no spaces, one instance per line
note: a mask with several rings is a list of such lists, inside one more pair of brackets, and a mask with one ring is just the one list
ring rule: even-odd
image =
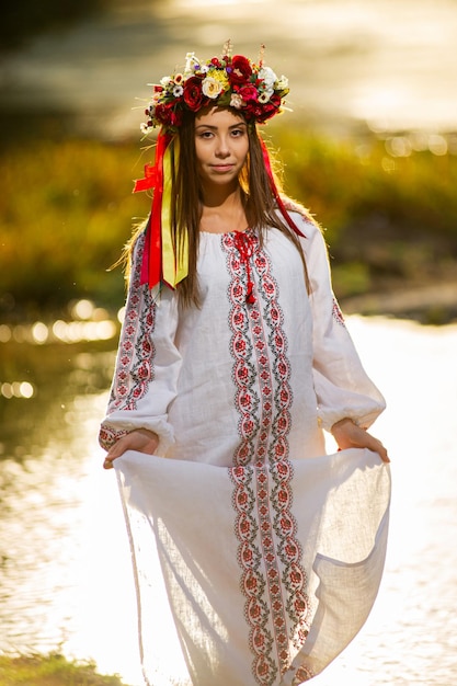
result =
[[327,247],[320,229],[306,225],[302,245],[313,313],[313,379],[318,416],[329,431],[343,418],[367,428],[386,407],[365,373],[333,295]]

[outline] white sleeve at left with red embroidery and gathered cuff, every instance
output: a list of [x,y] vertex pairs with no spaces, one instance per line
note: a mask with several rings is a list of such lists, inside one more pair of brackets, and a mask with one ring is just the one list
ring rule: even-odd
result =
[[140,284],[144,235],[137,240],[124,323],[100,444],[108,449],[122,435],[148,428],[159,435],[158,454],[173,443],[168,409],[176,396],[181,355],[174,344],[178,304],[172,290],[155,297]]

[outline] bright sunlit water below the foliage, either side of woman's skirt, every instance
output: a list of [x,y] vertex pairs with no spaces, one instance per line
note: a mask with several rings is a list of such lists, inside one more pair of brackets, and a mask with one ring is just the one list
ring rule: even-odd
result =
[[[392,458],[392,524],[375,609],[315,683],[452,686],[457,325],[359,317],[347,323],[388,400],[376,433]],[[102,470],[96,444],[113,346],[2,344],[0,388],[25,379],[34,392],[0,398],[0,650],[60,648],[141,686],[123,516],[114,475]]]

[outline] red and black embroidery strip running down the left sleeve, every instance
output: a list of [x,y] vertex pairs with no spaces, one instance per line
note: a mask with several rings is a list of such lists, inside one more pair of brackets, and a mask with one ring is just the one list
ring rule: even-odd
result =
[[[144,237],[137,250],[141,254]],[[156,305],[151,290],[140,284],[141,259],[137,259],[132,274],[132,286],[126,306],[123,332],[117,354],[116,376],[113,381],[108,413],[115,410],[135,410],[153,378],[156,354],[151,334],[156,323]],[[141,298],[144,305],[141,306]]]

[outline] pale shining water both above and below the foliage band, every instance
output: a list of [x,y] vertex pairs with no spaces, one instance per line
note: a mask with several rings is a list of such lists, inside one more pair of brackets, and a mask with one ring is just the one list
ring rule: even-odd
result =
[[[98,133],[137,135],[146,84],[228,37],[254,56],[266,44],[267,61],[290,79],[292,116],[311,125],[457,129],[454,0],[119,1],[103,20],[3,57],[2,107],[32,102],[34,112],[75,111]],[[376,432],[392,457],[392,524],[375,609],[313,683],[452,686],[457,325],[349,324],[388,400]],[[141,686],[129,552],[96,444],[114,344],[16,334],[0,335],[0,651],[60,647]]]

